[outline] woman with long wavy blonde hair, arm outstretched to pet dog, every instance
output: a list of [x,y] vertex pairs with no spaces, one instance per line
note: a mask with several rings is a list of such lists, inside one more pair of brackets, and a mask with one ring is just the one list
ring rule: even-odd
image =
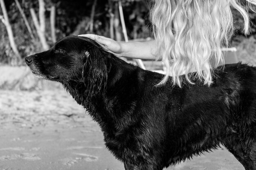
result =
[[[208,86],[213,68],[224,64],[222,48],[228,46],[234,33],[232,9],[241,13],[245,34],[249,31],[248,8],[256,0],[154,0],[150,10],[155,40],[149,42],[116,42],[103,36],[85,34],[117,56],[158,59],[166,65],[166,76],[173,85],[193,84],[196,79]],[[196,74],[189,73],[195,71]],[[185,75],[181,79],[180,75]]]

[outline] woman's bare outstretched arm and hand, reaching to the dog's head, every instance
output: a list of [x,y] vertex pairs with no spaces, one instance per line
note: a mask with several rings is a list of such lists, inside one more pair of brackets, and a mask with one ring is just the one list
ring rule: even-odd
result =
[[142,60],[156,59],[157,47],[155,45],[155,40],[145,42],[117,42],[110,38],[94,34],[84,34],[79,36],[85,36],[95,40],[101,44],[106,51],[114,53],[117,57],[129,57]]

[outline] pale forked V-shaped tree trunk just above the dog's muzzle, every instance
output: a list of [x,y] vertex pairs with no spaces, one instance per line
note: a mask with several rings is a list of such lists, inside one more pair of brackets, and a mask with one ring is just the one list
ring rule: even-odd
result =
[[44,13],[45,9],[44,9],[44,6],[42,7],[42,5],[44,5],[44,3],[40,2],[40,1],[43,1],[43,0],[39,0],[40,24],[38,22],[38,18],[36,17],[36,12],[35,12],[34,8],[30,8],[30,13],[31,13],[31,17],[34,22],[34,25],[36,27],[36,32],[37,32],[40,42],[43,46],[43,49],[48,50],[49,46],[48,46],[48,44],[46,42],[46,38],[45,38],[45,13]]

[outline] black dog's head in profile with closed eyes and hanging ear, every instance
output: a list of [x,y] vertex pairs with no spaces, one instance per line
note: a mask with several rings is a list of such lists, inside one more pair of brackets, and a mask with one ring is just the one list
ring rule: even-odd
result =
[[25,61],[34,75],[62,84],[83,82],[91,93],[97,93],[106,86],[108,55],[94,40],[70,36]]

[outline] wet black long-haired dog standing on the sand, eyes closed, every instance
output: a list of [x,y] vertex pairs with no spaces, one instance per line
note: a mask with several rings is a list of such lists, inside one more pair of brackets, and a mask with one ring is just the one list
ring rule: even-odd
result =
[[127,64],[88,38],[67,37],[26,57],[58,81],[101,127],[126,170],[162,170],[224,145],[256,170],[256,68],[226,65],[208,87],[155,86],[163,75]]

